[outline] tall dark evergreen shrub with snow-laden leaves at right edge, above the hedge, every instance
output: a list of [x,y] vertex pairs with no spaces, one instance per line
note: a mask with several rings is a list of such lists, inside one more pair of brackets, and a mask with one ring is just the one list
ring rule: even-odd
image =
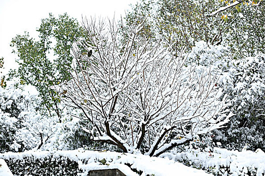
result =
[[265,150],[265,55],[231,60],[223,78],[235,114],[226,128],[215,131],[223,147]]

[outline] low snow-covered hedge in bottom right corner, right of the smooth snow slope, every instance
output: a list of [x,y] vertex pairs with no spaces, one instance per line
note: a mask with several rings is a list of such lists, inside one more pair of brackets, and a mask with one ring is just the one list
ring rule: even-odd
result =
[[161,157],[168,157],[185,165],[206,170],[214,175],[256,175],[265,174],[265,153],[261,149],[255,152],[243,150],[227,150],[214,148],[214,151],[205,149],[187,149],[186,152],[165,153]]

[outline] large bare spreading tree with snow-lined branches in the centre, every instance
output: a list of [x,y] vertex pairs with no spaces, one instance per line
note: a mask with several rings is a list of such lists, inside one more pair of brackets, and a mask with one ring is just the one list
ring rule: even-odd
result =
[[92,44],[83,43],[85,53],[74,49],[75,71],[61,94],[82,111],[92,140],[158,156],[231,116],[210,66],[187,64],[184,51],[177,57],[162,40],[139,35],[141,24],[84,25]]

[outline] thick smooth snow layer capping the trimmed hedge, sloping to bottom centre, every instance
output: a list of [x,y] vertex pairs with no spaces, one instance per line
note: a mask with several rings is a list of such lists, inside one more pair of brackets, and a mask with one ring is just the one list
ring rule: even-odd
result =
[[[89,150],[66,150],[66,151],[26,151],[21,153],[8,152],[1,154],[0,157],[6,159],[23,159],[23,157],[35,157],[43,158],[48,155],[53,157],[67,157],[79,163],[79,167],[83,169],[84,173],[81,175],[87,175],[90,170],[97,169],[112,169],[118,168],[126,175],[138,175],[133,172],[131,168],[135,168],[138,171],[143,171],[141,175],[154,174],[154,175],[210,175],[205,173],[203,170],[188,167],[182,163],[170,160],[168,158],[157,158],[150,157],[142,154],[129,154],[129,153],[118,153],[111,151],[89,151]],[[104,160],[105,162],[102,162]],[[86,161],[84,163],[84,161]],[[129,164],[130,167],[125,165]]]

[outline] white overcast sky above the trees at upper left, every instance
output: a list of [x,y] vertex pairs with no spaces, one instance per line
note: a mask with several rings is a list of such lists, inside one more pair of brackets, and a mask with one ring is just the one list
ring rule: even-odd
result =
[[10,68],[16,68],[14,54],[10,42],[17,34],[28,31],[35,38],[36,28],[40,20],[47,18],[49,13],[58,17],[68,13],[81,22],[81,16],[120,17],[130,9],[130,4],[137,0],[0,0],[0,57],[4,57],[3,73]]

